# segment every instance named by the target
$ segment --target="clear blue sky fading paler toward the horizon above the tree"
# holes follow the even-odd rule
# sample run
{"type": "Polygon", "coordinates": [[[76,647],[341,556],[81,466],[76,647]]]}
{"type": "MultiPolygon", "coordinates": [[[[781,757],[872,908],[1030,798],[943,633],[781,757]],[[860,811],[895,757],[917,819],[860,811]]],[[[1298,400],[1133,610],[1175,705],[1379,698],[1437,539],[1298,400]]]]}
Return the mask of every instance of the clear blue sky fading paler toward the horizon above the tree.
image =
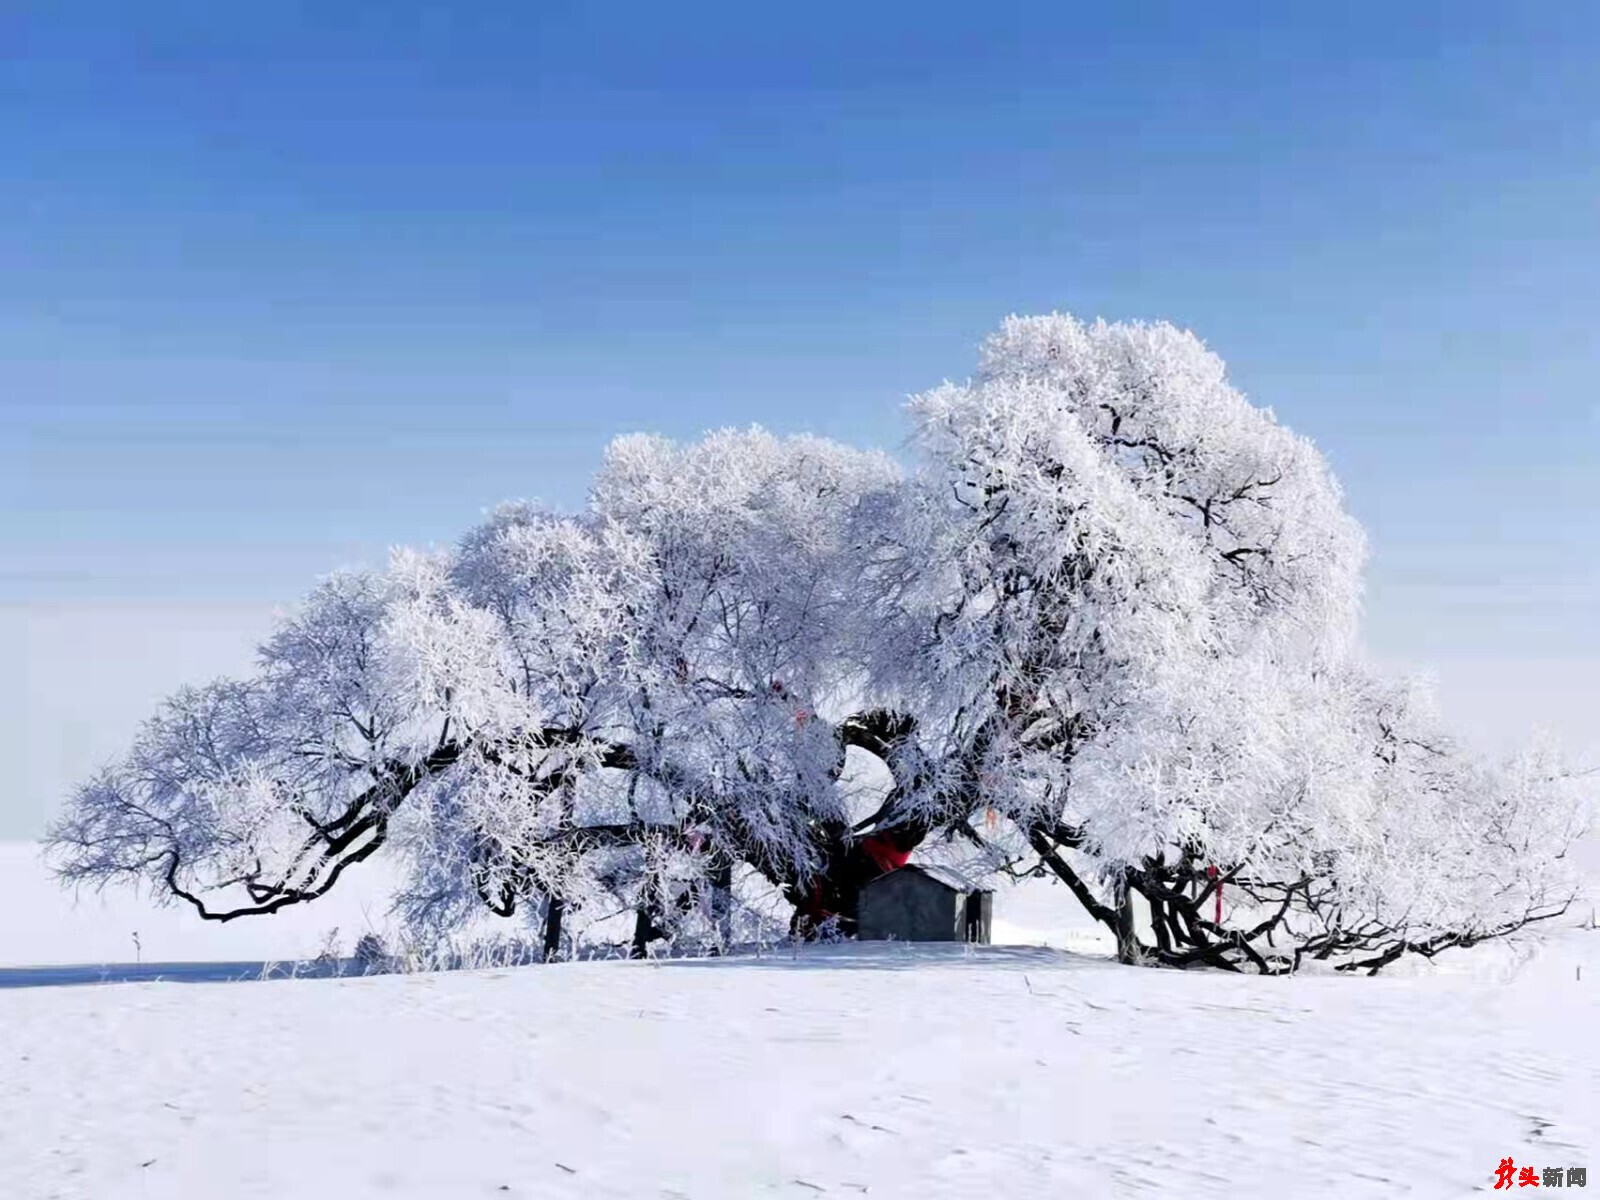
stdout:
{"type": "Polygon", "coordinates": [[[893,450],[1051,309],[1206,338],[1373,648],[1600,750],[1597,61],[1586,3],[5,5],[0,837],[334,566],[626,430],[893,450]]]}

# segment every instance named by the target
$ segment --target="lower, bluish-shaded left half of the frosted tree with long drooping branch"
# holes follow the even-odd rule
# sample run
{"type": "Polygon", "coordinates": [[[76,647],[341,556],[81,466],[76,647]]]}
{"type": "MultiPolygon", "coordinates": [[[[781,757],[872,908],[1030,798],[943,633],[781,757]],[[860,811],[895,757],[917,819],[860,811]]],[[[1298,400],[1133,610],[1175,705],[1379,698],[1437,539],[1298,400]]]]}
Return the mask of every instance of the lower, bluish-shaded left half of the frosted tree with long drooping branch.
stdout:
{"type": "Polygon", "coordinates": [[[837,709],[869,638],[858,550],[898,486],[816,438],[622,438],[586,514],[506,507],[333,579],[256,678],[174,698],[53,830],[62,874],[232,920],[389,843],[413,922],[531,901],[547,952],[586,899],[637,907],[637,947],[702,891],[725,922],[738,864],[798,898],[872,736],[837,709]]]}

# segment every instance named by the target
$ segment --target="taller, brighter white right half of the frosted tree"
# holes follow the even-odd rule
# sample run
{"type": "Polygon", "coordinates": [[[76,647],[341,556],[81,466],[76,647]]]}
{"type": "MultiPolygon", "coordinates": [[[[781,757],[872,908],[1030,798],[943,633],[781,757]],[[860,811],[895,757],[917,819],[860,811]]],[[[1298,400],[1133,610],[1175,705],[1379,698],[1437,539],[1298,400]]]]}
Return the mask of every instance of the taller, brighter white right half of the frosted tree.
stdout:
{"type": "Polygon", "coordinates": [[[1011,320],[912,411],[926,566],[890,573],[877,661],[936,763],[907,824],[1010,818],[1125,958],[1378,963],[1560,910],[1560,768],[1493,773],[1432,726],[1397,757],[1410,710],[1355,662],[1360,530],[1198,339],[1011,320]],[[1512,843],[1518,885],[1475,886],[1512,843]],[[1221,926],[1229,882],[1259,902],[1221,926]]]}

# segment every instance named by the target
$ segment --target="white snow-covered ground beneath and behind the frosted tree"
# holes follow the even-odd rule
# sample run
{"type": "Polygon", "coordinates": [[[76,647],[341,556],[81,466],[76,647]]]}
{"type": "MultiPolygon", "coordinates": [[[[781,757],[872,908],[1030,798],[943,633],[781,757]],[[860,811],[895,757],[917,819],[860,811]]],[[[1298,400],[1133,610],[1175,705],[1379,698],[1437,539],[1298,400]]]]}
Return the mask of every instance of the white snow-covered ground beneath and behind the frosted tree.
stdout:
{"type": "MultiPolygon", "coordinates": [[[[10,965],[126,960],[130,920],[147,960],[286,957],[382,907],[210,930],[74,914],[22,848],[5,870],[10,965]]],[[[0,1197],[1464,1197],[1507,1155],[1600,1170],[1587,907],[1403,978],[1278,981],[1117,966],[1069,910],[1029,885],[997,933],[1077,950],[0,989],[0,1197]]]]}

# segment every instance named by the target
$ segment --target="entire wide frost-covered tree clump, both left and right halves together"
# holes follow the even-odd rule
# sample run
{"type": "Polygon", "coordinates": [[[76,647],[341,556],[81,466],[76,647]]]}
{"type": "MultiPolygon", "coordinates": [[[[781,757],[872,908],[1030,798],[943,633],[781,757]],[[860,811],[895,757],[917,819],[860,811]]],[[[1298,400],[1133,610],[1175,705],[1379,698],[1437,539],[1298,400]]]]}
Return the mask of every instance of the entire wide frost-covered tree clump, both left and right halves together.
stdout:
{"type": "Polygon", "coordinates": [[[77,794],[62,874],[229,920],[387,843],[413,922],[531,912],[547,954],[606,906],[638,954],[726,941],[741,869],[848,931],[930,837],[1035,859],[1126,960],[1376,970],[1558,910],[1560,765],[1475,763],[1360,664],[1326,462],[1192,334],[1011,320],[910,413],[909,475],[630,437],[578,515],[330,581],[77,794]]]}

